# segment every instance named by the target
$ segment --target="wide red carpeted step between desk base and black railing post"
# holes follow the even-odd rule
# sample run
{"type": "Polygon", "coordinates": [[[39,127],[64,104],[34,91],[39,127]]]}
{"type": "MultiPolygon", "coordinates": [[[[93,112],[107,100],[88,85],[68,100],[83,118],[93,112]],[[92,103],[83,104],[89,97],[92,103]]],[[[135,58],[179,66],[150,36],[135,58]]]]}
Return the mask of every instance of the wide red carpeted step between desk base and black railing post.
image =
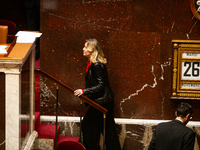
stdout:
{"type": "MultiPolygon", "coordinates": [[[[38,138],[54,139],[56,138],[56,125],[40,124],[36,130],[38,138]]],[[[59,138],[60,126],[57,126],[57,138],[59,138]]]]}

